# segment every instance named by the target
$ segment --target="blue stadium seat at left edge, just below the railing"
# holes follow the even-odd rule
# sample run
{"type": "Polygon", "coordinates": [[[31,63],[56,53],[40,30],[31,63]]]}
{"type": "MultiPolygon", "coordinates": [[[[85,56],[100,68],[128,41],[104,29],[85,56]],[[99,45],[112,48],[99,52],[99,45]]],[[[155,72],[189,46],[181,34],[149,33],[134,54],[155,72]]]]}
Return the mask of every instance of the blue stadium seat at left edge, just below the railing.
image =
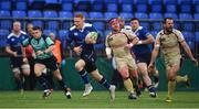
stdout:
{"type": "Polygon", "coordinates": [[[4,29],[4,30],[12,29],[12,21],[10,21],[10,20],[0,20],[0,29],[4,29]]]}

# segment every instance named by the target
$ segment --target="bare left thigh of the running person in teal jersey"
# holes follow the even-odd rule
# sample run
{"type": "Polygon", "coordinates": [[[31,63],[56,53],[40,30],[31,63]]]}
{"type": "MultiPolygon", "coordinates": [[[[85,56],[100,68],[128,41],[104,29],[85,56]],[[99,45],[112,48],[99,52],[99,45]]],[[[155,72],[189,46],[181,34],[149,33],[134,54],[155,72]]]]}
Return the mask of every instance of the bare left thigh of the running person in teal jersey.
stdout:
{"type": "Polygon", "coordinates": [[[35,76],[39,77],[42,74],[44,68],[45,68],[44,64],[35,63],[34,64],[34,74],[35,74],[35,76]]]}

